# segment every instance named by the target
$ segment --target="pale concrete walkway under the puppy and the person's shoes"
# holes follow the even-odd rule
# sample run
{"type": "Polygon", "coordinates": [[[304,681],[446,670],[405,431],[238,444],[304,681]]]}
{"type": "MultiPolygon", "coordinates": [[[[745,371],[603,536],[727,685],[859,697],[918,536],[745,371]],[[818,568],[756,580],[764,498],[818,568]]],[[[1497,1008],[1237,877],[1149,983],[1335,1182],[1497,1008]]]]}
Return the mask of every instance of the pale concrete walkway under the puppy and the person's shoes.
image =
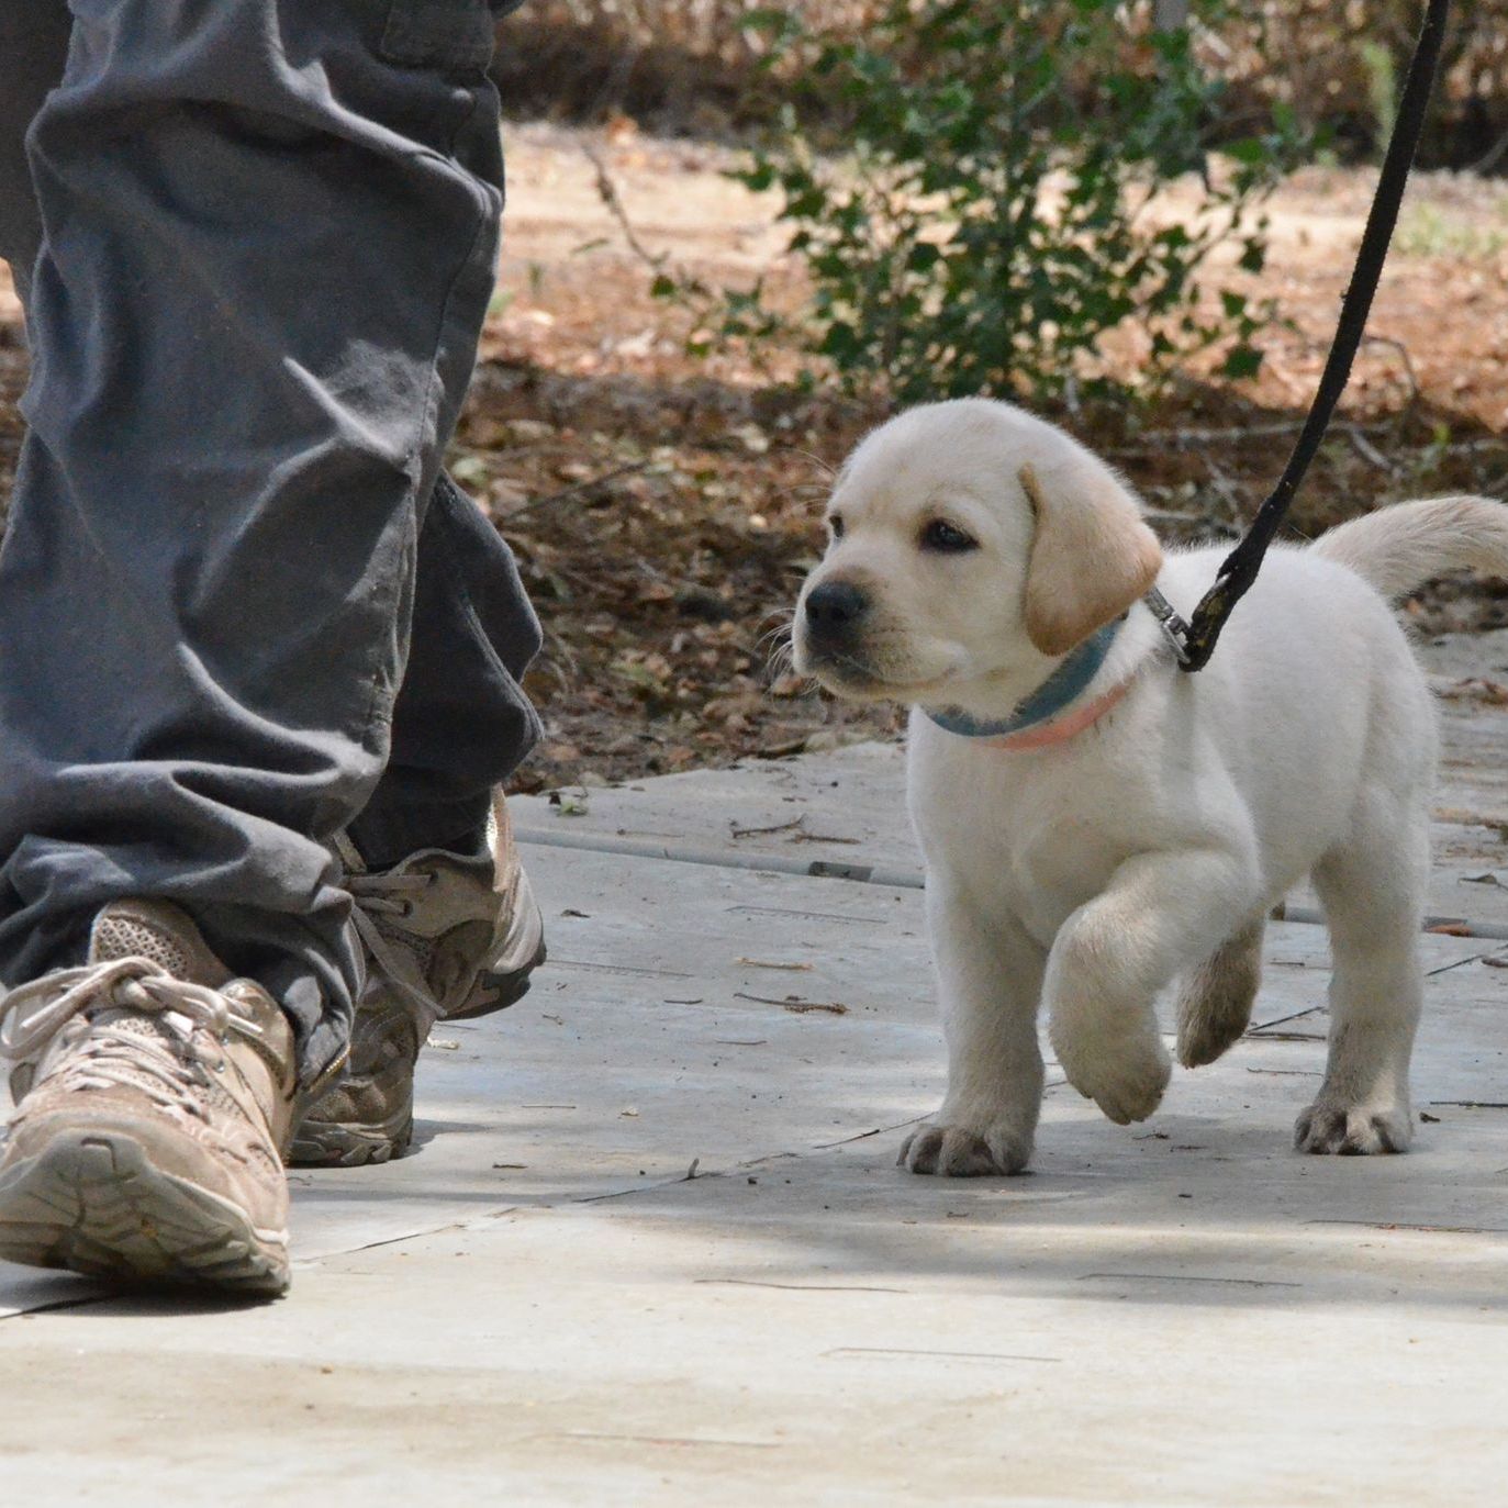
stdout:
{"type": "Polygon", "coordinates": [[[1151,1122],[1051,1072],[1030,1176],[908,1176],[942,1054],[899,751],[520,802],[550,964],[436,1033],[416,1155],[294,1175],[285,1301],[0,1264],[8,1497],[1500,1500],[1508,712],[1460,692],[1508,633],[1431,654],[1434,908],[1496,936],[1427,938],[1410,1157],[1288,1151],[1329,961],[1285,921],[1151,1122]]]}

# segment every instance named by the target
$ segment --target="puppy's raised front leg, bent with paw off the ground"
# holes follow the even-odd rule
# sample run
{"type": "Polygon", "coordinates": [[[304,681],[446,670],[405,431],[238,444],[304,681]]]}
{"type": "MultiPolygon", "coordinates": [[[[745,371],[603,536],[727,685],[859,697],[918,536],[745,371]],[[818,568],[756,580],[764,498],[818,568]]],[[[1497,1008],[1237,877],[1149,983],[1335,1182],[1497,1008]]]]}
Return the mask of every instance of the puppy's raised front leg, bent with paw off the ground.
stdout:
{"type": "Polygon", "coordinates": [[[1221,851],[1140,854],[1063,923],[1044,998],[1068,1081],[1119,1125],[1145,1120],[1170,1065],[1157,992],[1205,958],[1259,897],[1256,866],[1221,851]]]}

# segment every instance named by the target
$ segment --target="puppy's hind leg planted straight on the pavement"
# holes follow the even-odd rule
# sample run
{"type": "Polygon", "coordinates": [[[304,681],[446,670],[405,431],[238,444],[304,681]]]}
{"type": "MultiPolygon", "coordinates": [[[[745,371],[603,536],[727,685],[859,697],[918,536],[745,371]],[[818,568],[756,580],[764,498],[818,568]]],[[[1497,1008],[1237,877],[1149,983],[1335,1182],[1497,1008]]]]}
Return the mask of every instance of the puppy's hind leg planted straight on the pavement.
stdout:
{"type": "Polygon", "coordinates": [[[1424,810],[1374,810],[1315,869],[1330,923],[1330,1057],[1294,1126],[1300,1152],[1405,1152],[1408,1059],[1424,995],[1419,929],[1430,873],[1424,810]]]}

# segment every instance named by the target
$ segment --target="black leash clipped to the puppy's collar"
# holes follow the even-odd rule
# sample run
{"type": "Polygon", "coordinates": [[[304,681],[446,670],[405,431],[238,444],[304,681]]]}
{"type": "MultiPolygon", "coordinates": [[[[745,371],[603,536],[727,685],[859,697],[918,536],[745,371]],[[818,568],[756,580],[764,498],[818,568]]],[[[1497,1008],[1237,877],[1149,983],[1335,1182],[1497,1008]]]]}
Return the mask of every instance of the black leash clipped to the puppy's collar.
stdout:
{"type": "Polygon", "coordinates": [[[1351,285],[1341,305],[1341,323],[1336,327],[1324,372],[1320,375],[1313,406],[1304,419],[1294,452],[1288,457],[1283,475],[1258,510],[1241,543],[1220,566],[1215,584],[1205,593],[1188,623],[1173,611],[1172,603],[1155,587],[1146,596],[1146,605],[1163,621],[1182,670],[1203,670],[1209,662],[1215,639],[1220,638],[1220,630],[1224,627],[1226,618],[1231,617],[1232,608],[1256,581],[1262,556],[1267,553],[1268,544],[1273,543],[1273,535],[1283,522],[1283,514],[1294,501],[1294,493],[1298,492],[1298,484],[1320,449],[1335,406],[1351,377],[1351,362],[1362,344],[1366,315],[1372,308],[1372,294],[1377,293],[1377,279],[1381,276],[1383,261],[1387,256],[1387,243],[1392,240],[1393,225],[1398,222],[1398,205],[1408,182],[1408,169],[1413,166],[1415,149],[1419,146],[1419,133],[1424,130],[1425,107],[1434,86],[1449,8],[1451,0],[1430,0],[1425,11],[1419,41],[1415,42],[1413,62],[1408,65],[1408,77],[1404,81],[1402,98],[1398,101],[1398,121],[1393,125],[1387,155],[1383,158],[1383,167],[1377,178],[1377,196],[1372,199],[1372,208],[1366,217],[1360,250],[1356,253],[1351,285]]]}

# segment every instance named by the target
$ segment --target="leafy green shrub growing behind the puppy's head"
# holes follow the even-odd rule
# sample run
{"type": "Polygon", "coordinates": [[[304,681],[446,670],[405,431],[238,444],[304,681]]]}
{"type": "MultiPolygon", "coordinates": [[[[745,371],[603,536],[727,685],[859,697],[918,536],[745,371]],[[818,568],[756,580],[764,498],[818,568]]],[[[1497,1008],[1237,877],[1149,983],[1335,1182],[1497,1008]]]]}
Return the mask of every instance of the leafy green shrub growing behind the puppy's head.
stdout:
{"type": "MultiPolygon", "coordinates": [[[[1191,9],[1199,27],[1220,5],[1191,9]]],[[[789,107],[737,176],[784,196],[814,296],[799,333],[851,386],[1042,398],[1098,383],[1096,348],[1129,320],[1151,336],[1148,380],[1218,341],[1226,374],[1256,371],[1271,309],[1226,288],[1200,314],[1197,274],[1232,240],[1238,265],[1261,270],[1258,207],[1297,142],[1280,122],[1212,161],[1221,84],[1190,27],[1158,32],[1145,11],[890,0],[858,36],[808,30],[790,9],[751,18],[771,65],[799,51],[802,86],[838,107],[840,154],[819,152],[789,107]],[[1149,204],[1188,173],[1197,211],[1149,204]]],[[[757,339],[777,323],[756,288],[727,299],[715,329],[757,339]]]]}

